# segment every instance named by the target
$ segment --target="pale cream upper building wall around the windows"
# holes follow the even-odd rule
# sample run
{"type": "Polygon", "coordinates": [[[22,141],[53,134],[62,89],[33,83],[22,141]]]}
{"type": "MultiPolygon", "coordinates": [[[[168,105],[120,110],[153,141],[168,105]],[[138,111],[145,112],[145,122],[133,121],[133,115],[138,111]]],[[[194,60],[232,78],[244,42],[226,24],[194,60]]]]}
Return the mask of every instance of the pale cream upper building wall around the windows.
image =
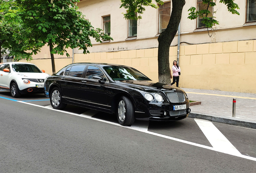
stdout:
{"type": "MultiPolygon", "coordinates": [[[[164,2],[171,1],[164,0],[164,2]]],[[[213,26],[214,32],[213,30],[210,30],[209,34],[212,36],[209,37],[207,30],[198,32],[198,29],[196,29],[196,20],[188,19],[188,9],[192,6],[197,6],[196,0],[186,0],[186,4],[182,10],[181,42],[200,44],[206,42],[256,39],[256,25],[243,26],[246,23],[246,0],[235,0],[234,2],[237,3],[240,8],[237,10],[240,15],[231,14],[231,12],[228,12],[225,4],[219,3],[219,0],[216,2],[217,5],[215,6],[214,11],[217,12],[214,16],[216,17],[216,20],[219,21],[219,25],[213,26]]],[[[92,39],[92,43],[100,47],[100,50],[97,51],[115,50],[114,47],[111,48],[111,44],[115,44],[117,48],[122,47],[128,50],[158,46],[156,36],[158,34],[159,24],[158,9],[150,6],[145,7],[145,12],[141,14],[142,19],[137,22],[136,40],[126,41],[128,38],[128,20],[124,19],[124,15],[122,14],[126,12],[126,9],[120,8],[120,0],[82,0],[78,3],[78,7],[83,11],[86,18],[89,19],[95,28],[103,29],[102,16],[111,16],[110,36],[114,40],[111,40],[108,44],[99,44],[92,39]],[[143,39],[151,39],[151,41],[142,42],[143,39]],[[136,43],[134,43],[134,41],[136,43]]],[[[174,38],[171,43],[171,45],[175,44],[177,44],[177,38],[174,38]]],[[[90,51],[93,49],[95,48],[89,48],[90,51]]],[[[93,52],[95,51],[96,50],[93,50],[93,52]]]]}

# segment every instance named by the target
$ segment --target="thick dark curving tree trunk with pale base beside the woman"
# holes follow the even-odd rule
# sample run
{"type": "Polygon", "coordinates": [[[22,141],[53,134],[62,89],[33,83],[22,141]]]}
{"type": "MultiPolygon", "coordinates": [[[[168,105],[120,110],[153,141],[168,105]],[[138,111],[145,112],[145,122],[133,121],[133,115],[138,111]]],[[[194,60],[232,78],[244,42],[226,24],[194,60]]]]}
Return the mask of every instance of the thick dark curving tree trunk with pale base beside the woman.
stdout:
{"type": "Polygon", "coordinates": [[[169,48],[178,31],[184,5],[185,0],[172,0],[169,24],[158,37],[158,79],[160,83],[171,84],[169,48]]]}

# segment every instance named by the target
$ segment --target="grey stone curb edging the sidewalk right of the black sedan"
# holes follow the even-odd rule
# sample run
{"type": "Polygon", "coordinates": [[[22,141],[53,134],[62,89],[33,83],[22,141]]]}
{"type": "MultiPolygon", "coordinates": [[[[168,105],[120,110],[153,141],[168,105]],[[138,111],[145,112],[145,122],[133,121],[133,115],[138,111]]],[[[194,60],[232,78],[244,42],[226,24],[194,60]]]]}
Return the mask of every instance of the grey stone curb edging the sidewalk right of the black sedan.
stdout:
{"type": "Polygon", "coordinates": [[[228,125],[235,125],[235,126],[240,126],[240,127],[247,127],[251,129],[256,129],[256,122],[254,121],[249,121],[245,119],[235,119],[233,117],[217,117],[217,116],[212,116],[212,115],[202,115],[202,114],[197,114],[197,113],[189,113],[188,115],[189,118],[196,118],[196,119],[204,119],[212,122],[217,122],[217,123],[223,123],[223,124],[228,124],[228,125]]]}

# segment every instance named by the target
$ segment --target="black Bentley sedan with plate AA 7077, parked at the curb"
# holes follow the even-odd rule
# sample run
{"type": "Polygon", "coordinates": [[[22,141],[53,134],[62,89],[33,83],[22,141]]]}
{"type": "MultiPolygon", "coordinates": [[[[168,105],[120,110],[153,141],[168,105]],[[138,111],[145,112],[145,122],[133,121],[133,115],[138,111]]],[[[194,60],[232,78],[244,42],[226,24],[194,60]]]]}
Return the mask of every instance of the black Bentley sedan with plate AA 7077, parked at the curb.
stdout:
{"type": "Polygon", "coordinates": [[[190,113],[182,89],[116,64],[70,64],[45,79],[45,96],[54,109],[72,104],[116,113],[120,125],[128,126],[135,119],[177,121],[190,113]]]}

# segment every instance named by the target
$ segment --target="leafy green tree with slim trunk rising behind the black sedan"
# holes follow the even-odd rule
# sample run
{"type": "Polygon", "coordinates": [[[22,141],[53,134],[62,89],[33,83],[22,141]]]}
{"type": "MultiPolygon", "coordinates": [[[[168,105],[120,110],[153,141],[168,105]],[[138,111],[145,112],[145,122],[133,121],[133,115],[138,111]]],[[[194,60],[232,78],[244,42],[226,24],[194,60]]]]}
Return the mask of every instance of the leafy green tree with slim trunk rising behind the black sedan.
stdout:
{"type": "MultiPolygon", "coordinates": [[[[99,28],[94,28],[85,15],[78,9],[79,0],[15,0],[19,12],[17,15],[23,27],[31,31],[33,44],[41,48],[45,44],[50,47],[52,72],[55,73],[54,54],[70,56],[66,49],[83,49],[92,46],[90,38],[97,42],[113,40],[99,28]]],[[[31,40],[32,41],[32,40],[31,40]]],[[[38,49],[33,49],[36,54],[38,49]]]]}

